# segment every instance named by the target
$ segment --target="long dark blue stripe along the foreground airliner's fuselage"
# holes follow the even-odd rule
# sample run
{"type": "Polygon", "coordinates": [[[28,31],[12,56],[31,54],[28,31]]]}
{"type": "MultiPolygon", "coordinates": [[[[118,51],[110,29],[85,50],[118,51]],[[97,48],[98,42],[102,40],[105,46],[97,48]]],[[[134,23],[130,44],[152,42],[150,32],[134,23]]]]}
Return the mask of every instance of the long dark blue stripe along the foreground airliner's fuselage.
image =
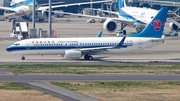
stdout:
{"type": "MultiPolygon", "coordinates": [[[[133,44],[123,44],[122,48],[127,48],[133,44]]],[[[6,48],[8,52],[14,51],[26,51],[26,50],[69,50],[69,49],[81,49],[81,48],[101,48],[110,47],[112,45],[96,45],[96,46],[9,46],[6,48]]],[[[112,48],[113,49],[113,48],[112,48]]],[[[117,48],[118,49],[118,48],[117,48]]]]}

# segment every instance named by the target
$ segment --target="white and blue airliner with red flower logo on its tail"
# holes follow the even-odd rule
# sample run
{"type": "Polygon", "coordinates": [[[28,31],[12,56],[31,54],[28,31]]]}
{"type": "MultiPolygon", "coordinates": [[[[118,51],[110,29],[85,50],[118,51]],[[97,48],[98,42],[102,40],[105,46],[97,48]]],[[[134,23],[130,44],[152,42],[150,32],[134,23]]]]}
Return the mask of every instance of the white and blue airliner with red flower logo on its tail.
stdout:
{"type": "Polygon", "coordinates": [[[163,7],[153,20],[140,33],[124,37],[101,38],[37,38],[17,41],[8,46],[10,53],[26,55],[60,55],[66,59],[93,60],[92,55],[121,53],[142,50],[164,42],[164,25],[168,8],[163,7]]]}

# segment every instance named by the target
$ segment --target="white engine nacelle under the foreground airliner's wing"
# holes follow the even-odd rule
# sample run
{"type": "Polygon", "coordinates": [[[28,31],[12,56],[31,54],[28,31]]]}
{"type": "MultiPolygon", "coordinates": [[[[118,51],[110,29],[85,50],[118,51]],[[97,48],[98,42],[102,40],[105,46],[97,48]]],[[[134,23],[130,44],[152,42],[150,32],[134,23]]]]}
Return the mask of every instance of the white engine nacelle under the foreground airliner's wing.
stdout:
{"type": "Polygon", "coordinates": [[[82,57],[81,51],[67,50],[65,51],[65,58],[67,59],[79,59],[82,57]]]}

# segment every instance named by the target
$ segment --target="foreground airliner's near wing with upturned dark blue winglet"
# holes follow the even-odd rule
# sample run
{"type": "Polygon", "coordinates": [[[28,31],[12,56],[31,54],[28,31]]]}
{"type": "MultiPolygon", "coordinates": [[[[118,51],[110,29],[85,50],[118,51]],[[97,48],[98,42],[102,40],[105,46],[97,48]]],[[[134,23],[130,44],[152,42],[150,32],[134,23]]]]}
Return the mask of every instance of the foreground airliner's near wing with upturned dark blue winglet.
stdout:
{"type": "Polygon", "coordinates": [[[82,54],[87,54],[88,53],[88,54],[91,54],[91,55],[99,54],[99,53],[102,53],[102,52],[108,52],[107,49],[122,48],[125,39],[126,39],[126,36],[124,36],[122,38],[122,40],[119,42],[119,44],[116,45],[116,46],[97,47],[97,48],[83,48],[83,49],[80,49],[80,51],[82,52],[82,54]]]}

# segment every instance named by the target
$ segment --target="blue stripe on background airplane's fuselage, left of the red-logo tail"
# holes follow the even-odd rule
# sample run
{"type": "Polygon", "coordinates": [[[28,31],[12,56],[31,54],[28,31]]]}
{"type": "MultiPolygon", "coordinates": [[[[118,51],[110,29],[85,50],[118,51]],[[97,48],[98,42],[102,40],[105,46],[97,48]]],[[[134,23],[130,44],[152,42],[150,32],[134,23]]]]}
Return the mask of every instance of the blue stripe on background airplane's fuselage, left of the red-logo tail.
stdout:
{"type": "Polygon", "coordinates": [[[147,24],[145,22],[142,22],[140,20],[137,20],[136,18],[134,18],[133,16],[127,14],[126,12],[124,12],[122,9],[119,9],[119,15],[128,19],[128,20],[133,20],[134,23],[139,23],[139,24],[147,24]]]}

